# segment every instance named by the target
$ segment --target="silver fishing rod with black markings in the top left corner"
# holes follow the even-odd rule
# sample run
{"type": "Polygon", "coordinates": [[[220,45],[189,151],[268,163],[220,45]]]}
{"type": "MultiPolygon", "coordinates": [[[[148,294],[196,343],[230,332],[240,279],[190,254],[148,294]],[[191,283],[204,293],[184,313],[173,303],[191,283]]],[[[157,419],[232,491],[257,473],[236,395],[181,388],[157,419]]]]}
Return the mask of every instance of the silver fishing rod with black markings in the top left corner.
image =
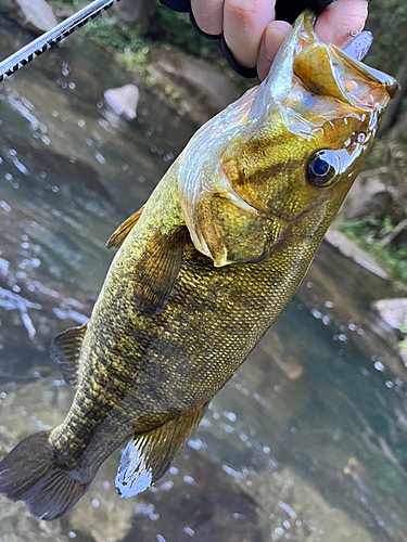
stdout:
{"type": "Polygon", "coordinates": [[[96,0],[0,63],[0,81],[51,49],[119,0],[96,0]]]}

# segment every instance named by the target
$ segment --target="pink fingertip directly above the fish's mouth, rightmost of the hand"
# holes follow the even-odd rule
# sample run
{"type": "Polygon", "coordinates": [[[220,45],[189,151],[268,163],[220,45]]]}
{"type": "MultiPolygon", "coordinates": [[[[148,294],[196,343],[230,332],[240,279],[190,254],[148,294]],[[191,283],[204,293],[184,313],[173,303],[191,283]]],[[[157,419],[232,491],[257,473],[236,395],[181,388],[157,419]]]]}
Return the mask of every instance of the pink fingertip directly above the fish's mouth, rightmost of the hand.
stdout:
{"type": "Polygon", "coordinates": [[[342,47],[351,39],[351,33],[364,29],[367,16],[367,0],[338,0],[318,16],[315,30],[323,43],[342,47]]]}

